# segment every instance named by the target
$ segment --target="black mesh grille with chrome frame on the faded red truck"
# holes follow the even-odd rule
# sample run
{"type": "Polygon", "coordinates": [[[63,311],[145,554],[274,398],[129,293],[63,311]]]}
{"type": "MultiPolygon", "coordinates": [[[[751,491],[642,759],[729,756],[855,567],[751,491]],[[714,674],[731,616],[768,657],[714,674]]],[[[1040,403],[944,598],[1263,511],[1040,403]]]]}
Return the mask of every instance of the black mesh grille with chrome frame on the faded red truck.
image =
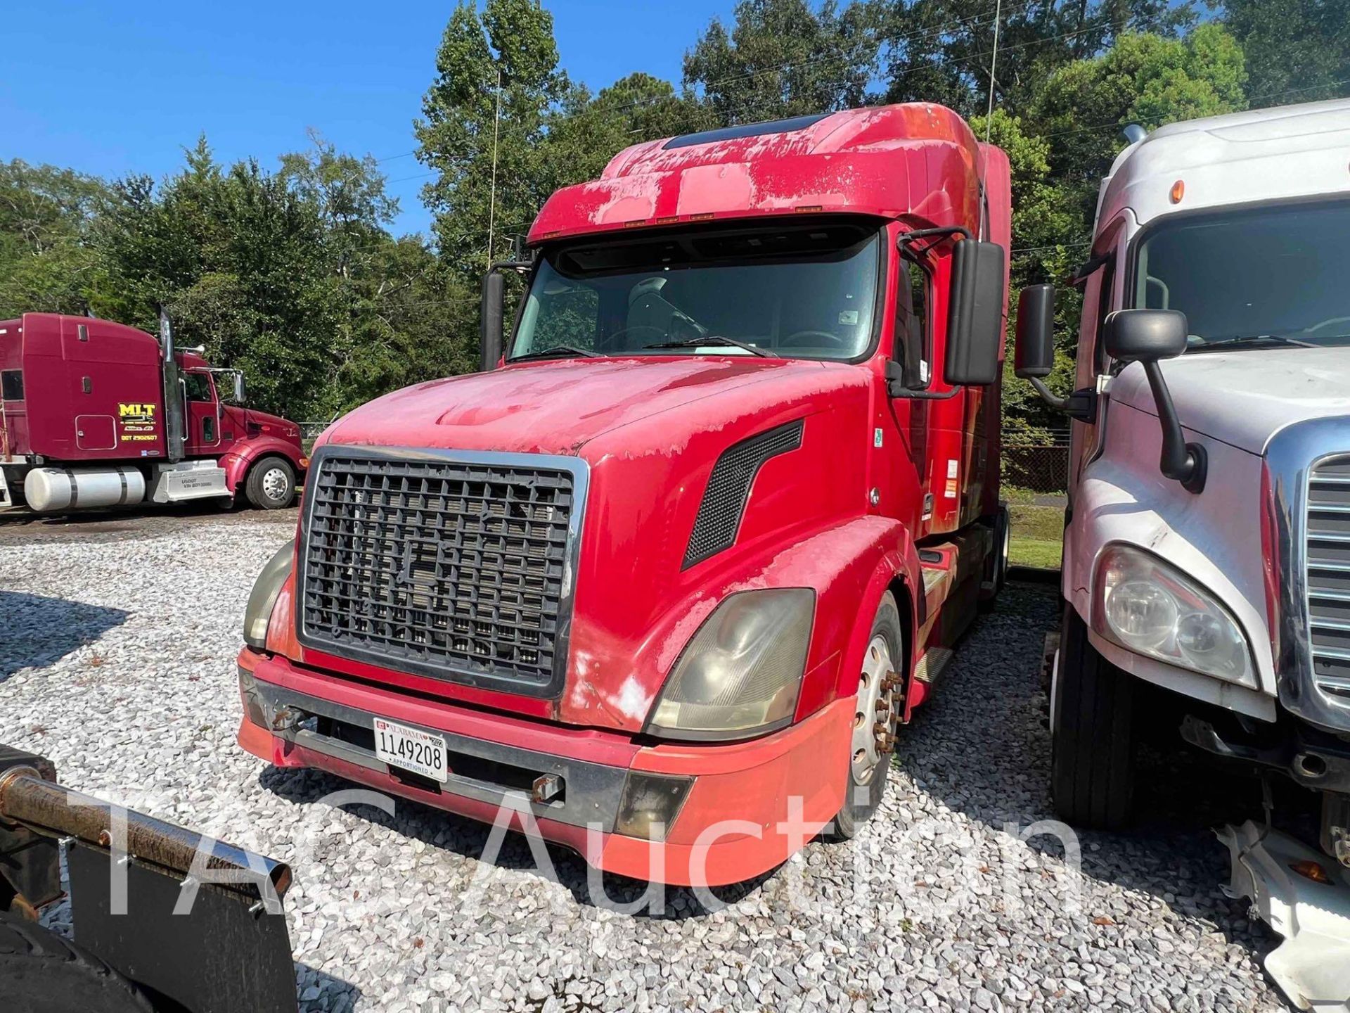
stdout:
{"type": "Polygon", "coordinates": [[[321,448],[301,527],[301,643],[555,693],[585,482],[571,458],[321,448]]]}

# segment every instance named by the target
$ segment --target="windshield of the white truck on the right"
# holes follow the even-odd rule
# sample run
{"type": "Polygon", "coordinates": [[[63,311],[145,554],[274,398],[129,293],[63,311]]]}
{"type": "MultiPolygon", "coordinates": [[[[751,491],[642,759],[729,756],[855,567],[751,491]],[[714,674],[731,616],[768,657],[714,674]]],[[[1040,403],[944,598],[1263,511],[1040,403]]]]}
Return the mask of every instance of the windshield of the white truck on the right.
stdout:
{"type": "Polygon", "coordinates": [[[1162,222],[1139,243],[1134,305],[1187,315],[1187,351],[1350,344],[1350,203],[1162,222]]]}

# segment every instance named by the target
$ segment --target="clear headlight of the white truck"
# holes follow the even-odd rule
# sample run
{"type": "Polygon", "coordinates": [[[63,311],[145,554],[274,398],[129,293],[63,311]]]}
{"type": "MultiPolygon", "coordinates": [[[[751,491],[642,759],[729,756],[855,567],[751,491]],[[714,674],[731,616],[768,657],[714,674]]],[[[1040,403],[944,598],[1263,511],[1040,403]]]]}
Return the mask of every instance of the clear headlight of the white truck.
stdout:
{"type": "Polygon", "coordinates": [[[1168,665],[1256,686],[1247,638],[1207,589],[1154,555],[1107,546],[1096,573],[1092,628],[1168,665]]]}

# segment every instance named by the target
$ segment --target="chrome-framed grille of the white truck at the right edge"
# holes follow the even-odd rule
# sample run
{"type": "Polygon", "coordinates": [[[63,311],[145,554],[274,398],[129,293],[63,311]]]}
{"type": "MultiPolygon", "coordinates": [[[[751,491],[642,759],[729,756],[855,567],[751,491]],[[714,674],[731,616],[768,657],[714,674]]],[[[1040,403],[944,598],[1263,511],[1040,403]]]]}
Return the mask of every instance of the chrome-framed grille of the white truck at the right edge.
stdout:
{"type": "Polygon", "coordinates": [[[1280,430],[1266,446],[1265,478],[1278,578],[1272,640],[1280,702],[1311,724],[1347,732],[1350,417],[1280,430]]]}

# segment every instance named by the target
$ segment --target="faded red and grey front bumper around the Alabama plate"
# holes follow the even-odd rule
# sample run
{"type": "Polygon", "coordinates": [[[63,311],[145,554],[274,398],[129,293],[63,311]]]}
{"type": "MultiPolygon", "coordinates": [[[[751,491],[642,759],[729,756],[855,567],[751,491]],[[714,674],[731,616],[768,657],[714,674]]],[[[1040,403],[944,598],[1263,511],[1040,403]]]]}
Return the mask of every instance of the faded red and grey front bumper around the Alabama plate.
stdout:
{"type": "Polygon", "coordinates": [[[471,819],[537,828],[606,873],[679,886],[741,882],[788,859],[844,804],[853,704],[745,743],[643,744],[614,732],[428,702],[240,654],[239,744],[278,767],[319,767],[389,794],[471,819]],[[450,778],[409,777],[375,756],[375,717],[446,739],[450,778]],[[560,793],[531,786],[552,775],[560,793]],[[664,840],[620,832],[625,790],[687,785],[664,840]]]}

